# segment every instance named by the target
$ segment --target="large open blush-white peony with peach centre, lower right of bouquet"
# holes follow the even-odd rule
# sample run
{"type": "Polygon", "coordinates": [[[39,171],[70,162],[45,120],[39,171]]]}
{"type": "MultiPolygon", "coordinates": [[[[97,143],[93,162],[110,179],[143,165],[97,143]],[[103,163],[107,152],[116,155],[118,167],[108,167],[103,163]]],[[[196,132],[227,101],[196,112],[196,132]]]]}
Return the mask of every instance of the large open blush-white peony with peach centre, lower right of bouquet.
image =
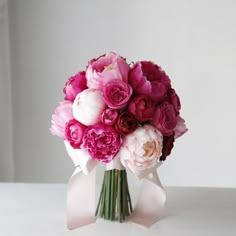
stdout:
{"type": "Polygon", "coordinates": [[[155,127],[138,127],[124,138],[119,152],[122,164],[136,173],[153,167],[161,156],[162,140],[161,132],[155,127]]]}

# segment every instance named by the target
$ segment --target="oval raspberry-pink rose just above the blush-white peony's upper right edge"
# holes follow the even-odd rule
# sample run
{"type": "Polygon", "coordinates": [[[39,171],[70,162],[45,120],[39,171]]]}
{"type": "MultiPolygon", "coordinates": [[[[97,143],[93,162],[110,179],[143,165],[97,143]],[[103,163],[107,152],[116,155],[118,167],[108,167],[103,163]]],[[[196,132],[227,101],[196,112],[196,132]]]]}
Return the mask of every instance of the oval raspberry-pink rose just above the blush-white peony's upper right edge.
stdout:
{"type": "Polygon", "coordinates": [[[158,106],[153,117],[153,124],[164,136],[172,135],[177,124],[174,106],[168,102],[163,102],[158,106]]]}

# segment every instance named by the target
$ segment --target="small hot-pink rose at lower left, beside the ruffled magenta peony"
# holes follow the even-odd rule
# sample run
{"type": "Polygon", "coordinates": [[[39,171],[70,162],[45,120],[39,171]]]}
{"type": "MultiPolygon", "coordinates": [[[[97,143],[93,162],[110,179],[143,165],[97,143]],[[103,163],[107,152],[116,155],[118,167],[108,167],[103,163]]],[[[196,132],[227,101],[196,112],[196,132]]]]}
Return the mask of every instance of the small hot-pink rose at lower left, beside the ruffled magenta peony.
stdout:
{"type": "Polygon", "coordinates": [[[66,123],[65,138],[73,148],[80,148],[86,127],[73,119],[66,123]]]}

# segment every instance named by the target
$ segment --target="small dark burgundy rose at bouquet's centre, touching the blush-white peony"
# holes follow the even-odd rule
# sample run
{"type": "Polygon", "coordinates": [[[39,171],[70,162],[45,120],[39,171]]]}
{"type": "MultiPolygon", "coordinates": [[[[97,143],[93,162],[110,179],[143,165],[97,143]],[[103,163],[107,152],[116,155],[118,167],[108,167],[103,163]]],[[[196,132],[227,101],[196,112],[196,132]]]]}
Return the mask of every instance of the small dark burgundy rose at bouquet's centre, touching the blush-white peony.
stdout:
{"type": "Polygon", "coordinates": [[[120,134],[130,134],[137,128],[137,121],[135,118],[128,112],[122,112],[115,124],[116,130],[120,134]]]}

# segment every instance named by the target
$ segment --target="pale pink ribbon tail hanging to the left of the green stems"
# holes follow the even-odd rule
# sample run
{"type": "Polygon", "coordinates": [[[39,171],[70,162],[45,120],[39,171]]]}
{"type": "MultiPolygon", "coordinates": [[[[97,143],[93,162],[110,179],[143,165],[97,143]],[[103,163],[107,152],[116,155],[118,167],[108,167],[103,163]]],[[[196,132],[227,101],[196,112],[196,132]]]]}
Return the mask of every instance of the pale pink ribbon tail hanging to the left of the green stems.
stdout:
{"type": "Polygon", "coordinates": [[[84,175],[80,167],[77,167],[68,184],[68,229],[95,223],[95,187],[96,168],[89,175],[84,175]]]}

